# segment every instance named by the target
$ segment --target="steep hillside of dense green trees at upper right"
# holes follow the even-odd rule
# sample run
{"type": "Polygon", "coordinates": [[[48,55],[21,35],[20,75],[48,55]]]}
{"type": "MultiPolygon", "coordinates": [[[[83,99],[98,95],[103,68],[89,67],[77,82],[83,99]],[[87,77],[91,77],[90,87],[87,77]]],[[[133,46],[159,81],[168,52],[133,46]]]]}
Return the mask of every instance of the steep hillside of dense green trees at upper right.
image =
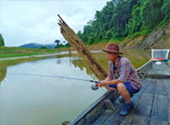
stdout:
{"type": "Polygon", "coordinates": [[[120,43],[127,38],[144,38],[169,22],[170,0],[111,0],[77,34],[86,44],[120,43]]]}

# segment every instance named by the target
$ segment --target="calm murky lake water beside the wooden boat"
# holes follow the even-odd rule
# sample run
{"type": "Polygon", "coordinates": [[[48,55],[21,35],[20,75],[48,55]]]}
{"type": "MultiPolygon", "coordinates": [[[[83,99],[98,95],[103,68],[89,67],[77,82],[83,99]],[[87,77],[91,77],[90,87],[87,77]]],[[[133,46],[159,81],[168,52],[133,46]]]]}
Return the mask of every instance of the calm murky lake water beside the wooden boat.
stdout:
{"type": "MultiPolygon", "coordinates": [[[[150,52],[124,50],[136,68],[147,62],[150,52]]],[[[105,53],[95,53],[107,70],[105,53]]],[[[96,77],[79,56],[0,61],[0,124],[60,125],[74,119],[105,89],[92,91],[93,83],[57,76],[96,77]]]]}

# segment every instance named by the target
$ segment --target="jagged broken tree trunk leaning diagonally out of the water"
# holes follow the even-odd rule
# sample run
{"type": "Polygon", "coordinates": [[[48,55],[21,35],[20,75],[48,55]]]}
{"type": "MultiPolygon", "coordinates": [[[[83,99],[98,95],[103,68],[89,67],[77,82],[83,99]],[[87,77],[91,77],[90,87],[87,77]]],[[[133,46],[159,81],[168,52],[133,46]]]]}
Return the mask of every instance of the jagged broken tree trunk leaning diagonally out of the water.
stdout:
{"type": "Polygon", "coordinates": [[[105,79],[107,76],[104,68],[96,61],[94,56],[90,53],[90,51],[86,48],[85,44],[82,40],[77,36],[77,34],[66,24],[66,22],[59,17],[59,25],[61,34],[67,40],[67,42],[73,46],[80,56],[84,59],[84,61],[89,65],[90,69],[96,75],[99,80],[105,79]]]}

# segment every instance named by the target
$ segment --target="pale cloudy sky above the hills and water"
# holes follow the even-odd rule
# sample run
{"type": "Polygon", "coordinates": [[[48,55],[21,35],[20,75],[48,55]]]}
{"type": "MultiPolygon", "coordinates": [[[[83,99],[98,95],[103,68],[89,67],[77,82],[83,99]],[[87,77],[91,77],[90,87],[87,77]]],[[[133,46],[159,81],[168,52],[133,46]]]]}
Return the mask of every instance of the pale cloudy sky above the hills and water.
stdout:
{"type": "Polygon", "coordinates": [[[0,34],[5,46],[64,41],[57,14],[77,33],[110,0],[0,0],[0,34]]]}

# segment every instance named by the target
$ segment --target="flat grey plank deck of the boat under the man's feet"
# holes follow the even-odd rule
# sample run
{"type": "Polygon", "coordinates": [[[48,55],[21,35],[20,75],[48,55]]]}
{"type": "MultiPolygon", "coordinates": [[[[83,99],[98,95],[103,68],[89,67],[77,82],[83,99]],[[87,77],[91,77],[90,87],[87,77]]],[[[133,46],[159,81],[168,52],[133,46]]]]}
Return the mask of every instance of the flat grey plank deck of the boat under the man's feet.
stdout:
{"type": "Polygon", "coordinates": [[[142,89],[132,98],[131,113],[120,116],[122,104],[115,102],[116,111],[106,110],[97,125],[168,125],[170,123],[170,79],[150,79],[142,81],[142,89]]]}

